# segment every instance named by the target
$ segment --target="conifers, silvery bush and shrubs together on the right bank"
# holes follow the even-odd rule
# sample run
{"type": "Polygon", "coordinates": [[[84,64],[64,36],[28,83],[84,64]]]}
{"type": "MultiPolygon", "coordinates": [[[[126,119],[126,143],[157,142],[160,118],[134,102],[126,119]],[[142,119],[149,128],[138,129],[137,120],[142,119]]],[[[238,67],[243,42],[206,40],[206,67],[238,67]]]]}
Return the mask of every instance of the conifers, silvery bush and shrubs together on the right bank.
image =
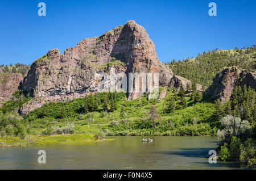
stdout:
{"type": "Polygon", "coordinates": [[[216,101],[216,117],[220,120],[218,136],[222,137],[218,147],[222,161],[236,161],[247,167],[256,166],[254,150],[256,132],[256,92],[249,88],[237,86],[229,102],[221,106],[216,101]]]}

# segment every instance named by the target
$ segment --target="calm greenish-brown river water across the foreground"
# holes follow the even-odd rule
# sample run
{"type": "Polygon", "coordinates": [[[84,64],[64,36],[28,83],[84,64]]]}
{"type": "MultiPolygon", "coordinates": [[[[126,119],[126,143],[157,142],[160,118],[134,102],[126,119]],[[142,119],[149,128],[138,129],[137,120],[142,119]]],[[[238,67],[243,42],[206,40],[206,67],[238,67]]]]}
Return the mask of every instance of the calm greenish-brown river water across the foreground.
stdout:
{"type": "Polygon", "coordinates": [[[82,145],[0,148],[0,169],[243,169],[236,163],[210,164],[217,137],[108,137],[82,145]],[[38,163],[46,151],[46,164],[38,163]]]}

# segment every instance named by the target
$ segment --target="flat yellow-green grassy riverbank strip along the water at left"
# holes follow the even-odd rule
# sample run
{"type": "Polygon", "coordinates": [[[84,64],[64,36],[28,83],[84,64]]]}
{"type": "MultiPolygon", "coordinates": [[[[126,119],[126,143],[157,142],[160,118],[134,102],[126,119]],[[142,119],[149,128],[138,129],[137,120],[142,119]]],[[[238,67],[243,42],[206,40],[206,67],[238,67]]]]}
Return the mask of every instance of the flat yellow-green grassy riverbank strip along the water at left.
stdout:
{"type": "Polygon", "coordinates": [[[98,139],[93,134],[68,134],[53,136],[31,136],[22,140],[20,137],[0,138],[0,147],[15,146],[39,146],[39,145],[60,145],[60,144],[83,144],[85,142],[110,140],[98,139]]]}

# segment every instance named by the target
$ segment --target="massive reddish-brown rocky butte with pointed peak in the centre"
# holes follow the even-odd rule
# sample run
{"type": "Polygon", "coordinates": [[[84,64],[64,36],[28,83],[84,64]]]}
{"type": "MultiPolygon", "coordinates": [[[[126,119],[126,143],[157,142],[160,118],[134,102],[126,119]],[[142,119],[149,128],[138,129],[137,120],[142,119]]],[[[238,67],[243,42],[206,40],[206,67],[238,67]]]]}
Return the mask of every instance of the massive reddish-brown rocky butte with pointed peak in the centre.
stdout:
{"type": "MultiPolygon", "coordinates": [[[[118,73],[127,75],[127,81],[129,73],[159,73],[159,86],[170,88],[179,88],[181,82],[185,86],[188,81],[174,77],[171,69],[158,60],[155,45],[146,30],[130,20],[99,37],[80,41],[76,47],[67,48],[64,54],[60,54],[59,49],[52,49],[38,58],[19,87],[35,99],[23,105],[20,113],[28,113],[52,100],[72,100],[88,92],[98,92],[99,83],[110,81],[102,77],[102,73],[110,74],[111,71],[115,72],[115,85],[119,87],[125,86],[122,85],[123,76],[118,73]]],[[[139,86],[141,83],[140,79],[139,86]]],[[[200,90],[200,85],[197,87],[200,90]]],[[[143,94],[127,92],[129,100],[143,94]]]]}

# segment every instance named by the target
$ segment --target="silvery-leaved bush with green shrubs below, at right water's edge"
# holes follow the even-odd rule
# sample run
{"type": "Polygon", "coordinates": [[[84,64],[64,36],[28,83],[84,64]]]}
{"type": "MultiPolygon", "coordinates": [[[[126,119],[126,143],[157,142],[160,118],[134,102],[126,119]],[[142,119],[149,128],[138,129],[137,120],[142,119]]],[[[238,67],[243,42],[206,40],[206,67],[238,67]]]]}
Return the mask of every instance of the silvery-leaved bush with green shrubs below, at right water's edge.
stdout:
{"type": "Polygon", "coordinates": [[[218,136],[222,142],[218,148],[218,158],[222,161],[236,161],[247,167],[256,167],[256,151],[250,137],[251,127],[248,121],[239,117],[225,116],[221,119],[222,131],[218,136]]]}

